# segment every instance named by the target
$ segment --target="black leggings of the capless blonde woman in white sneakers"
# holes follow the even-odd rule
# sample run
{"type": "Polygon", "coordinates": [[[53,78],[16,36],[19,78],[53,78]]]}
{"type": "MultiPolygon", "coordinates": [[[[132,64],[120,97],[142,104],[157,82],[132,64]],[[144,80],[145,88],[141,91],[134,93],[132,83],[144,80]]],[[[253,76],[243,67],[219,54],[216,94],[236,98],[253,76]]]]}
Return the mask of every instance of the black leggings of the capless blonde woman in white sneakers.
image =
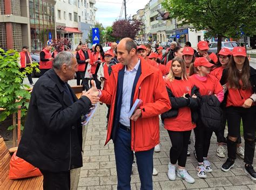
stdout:
{"type": "Polygon", "coordinates": [[[191,130],[167,131],[172,142],[172,147],[170,149],[171,164],[176,164],[178,160],[178,165],[185,167],[187,160],[188,140],[190,139],[191,130]]]}

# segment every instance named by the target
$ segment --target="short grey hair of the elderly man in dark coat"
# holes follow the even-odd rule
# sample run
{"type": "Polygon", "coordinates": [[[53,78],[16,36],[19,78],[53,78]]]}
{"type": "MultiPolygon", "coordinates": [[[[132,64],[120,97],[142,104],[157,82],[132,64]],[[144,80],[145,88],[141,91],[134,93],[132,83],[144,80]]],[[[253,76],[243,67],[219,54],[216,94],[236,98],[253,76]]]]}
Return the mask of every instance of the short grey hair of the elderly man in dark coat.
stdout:
{"type": "Polygon", "coordinates": [[[53,60],[53,69],[60,70],[62,65],[65,63],[68,66],[71,66],[72,58],[75,57],[73,53],[69,51],[62,51],[58,53],[56,58],[53,60]]]}

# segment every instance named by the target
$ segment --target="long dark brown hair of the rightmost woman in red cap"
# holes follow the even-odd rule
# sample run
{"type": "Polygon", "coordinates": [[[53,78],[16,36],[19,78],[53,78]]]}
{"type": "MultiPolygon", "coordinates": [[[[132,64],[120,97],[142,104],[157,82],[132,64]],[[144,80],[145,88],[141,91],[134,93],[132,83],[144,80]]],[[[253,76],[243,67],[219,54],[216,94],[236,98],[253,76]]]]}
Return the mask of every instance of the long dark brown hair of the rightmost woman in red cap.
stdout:
{"type": "Polygon", "coordinates": [[[250,64],[249,59],[245,58],[244,66],[242,67],[242,72],[239,72],[237,67],[235,66],[234,57],[230,58],[230,62],[228,62],[228,74],[227,81],[228,85],[232,89],[242,89],[246,90],[251,87],[250,84],[250,64]],[[242,81],[242,86],[239,83],[239,80],[242,81]]]}

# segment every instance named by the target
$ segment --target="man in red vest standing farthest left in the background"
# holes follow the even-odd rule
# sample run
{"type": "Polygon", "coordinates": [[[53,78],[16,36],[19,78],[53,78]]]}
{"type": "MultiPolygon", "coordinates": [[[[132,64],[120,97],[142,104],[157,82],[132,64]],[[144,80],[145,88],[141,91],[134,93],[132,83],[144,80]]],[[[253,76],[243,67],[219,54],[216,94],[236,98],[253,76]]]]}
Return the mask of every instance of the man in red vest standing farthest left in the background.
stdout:
{"type": "MultiPolygon", "coordinates": [[[[23,46],[22,51],[19,52],[19,57],[18,57],[18,65],[20,67],[19,71],[23,72],[25,70],[26,66],[29,66],[32,63],[32,58],[29,53],[29,47],[28,46],[23,46]]],[[[30,86],[33,86],[33,80],[31,73],[26,73],[26,76],[28,76],[30,86]]]]}

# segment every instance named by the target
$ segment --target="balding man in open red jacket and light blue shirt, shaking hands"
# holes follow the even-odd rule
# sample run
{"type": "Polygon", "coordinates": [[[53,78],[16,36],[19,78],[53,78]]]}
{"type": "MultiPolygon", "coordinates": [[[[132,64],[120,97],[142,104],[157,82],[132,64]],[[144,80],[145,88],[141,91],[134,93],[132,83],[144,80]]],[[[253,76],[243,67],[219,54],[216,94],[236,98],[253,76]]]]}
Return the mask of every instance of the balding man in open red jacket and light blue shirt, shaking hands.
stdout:
{"type": "Polygon", "coordinates": [[[100,101],[111,105],[107,142],[114,142],[117,166],[117,189],[131,189],[133,151],[135,152],[141,189],[153,189],[153,152],[159,144],[159,114],[171,104],[160,71],[137,57],[131,38],[117,45],[120,64],[112,66],[106,90],[100,101]],[[131,118],[129,112],[136,99],[142,100],[131,118]]]}

